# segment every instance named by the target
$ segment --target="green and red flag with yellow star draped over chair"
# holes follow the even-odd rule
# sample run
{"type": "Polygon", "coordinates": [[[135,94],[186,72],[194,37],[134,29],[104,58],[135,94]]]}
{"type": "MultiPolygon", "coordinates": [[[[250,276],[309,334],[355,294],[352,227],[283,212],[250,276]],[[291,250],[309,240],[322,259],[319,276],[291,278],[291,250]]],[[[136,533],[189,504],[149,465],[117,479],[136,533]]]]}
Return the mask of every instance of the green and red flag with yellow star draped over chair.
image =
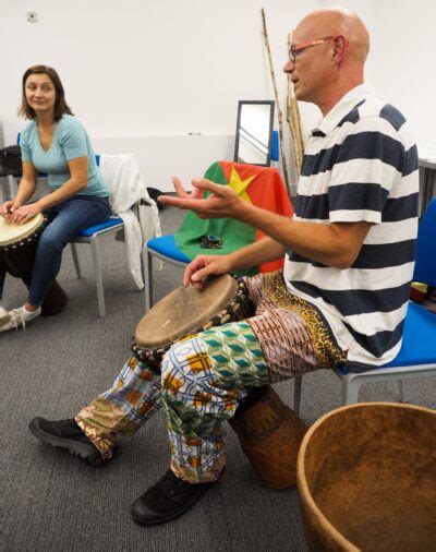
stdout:
{"type": "MultiPolygon", "coordinates": [[[[217,184],[230,185],[242,200],[256,207],[288,218],[292,215],[292,205],[277,169],[242,163],[217,161],[207,169],[204,178],[217,184]]],[[[199,254],[223,255],[231,253],[254,243],[264,236],[259,230],[239,220],[231,218],[202,220],[195,213],[190,212],[174,238],[178,249],[192,260],[199,254]],[[203,249],[201,247],[202,237],[210,235],[222,240],[220,249],[203,249]]],[[[257,272],[277,271],[282,265],[282,260],[272,261],[251,271],[241,271],[240,274],[252,275],[257,272]]]]}

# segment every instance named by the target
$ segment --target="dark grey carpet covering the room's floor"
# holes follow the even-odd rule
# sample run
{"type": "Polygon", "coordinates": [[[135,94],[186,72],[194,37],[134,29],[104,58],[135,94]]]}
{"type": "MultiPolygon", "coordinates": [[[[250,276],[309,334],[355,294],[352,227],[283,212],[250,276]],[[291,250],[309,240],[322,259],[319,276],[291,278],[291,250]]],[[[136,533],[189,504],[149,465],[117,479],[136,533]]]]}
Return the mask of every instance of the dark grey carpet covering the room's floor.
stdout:
{"type": "MultiPolygon", "coordinates": [[[[173,231],[184,215],[161,212],[173,231]]],[[[169,449],[158,413],[121,443],[119,456],[102,469],[46,448],[28,432],[34,416],[72,417],[108,388],[129,355],[130,337],[144,312],[143,292],[125,274],[124,245],[108,238],[102,247],[107,316],[98,317],[89,248],[78,245],[85,279],[75,278],[71,252],[61,274],[70,304],[60,315],[38,320],[25,332],[0,334],[1,535],[2,551],[305,551],[295,489],[265,488],[229,430],[228,469],[185,516],[142,528],[130,504],[167,469],[169,449]]],[[[182,271],[166,265],[155,277],[155,299],[179,285],[182,271]]],[[[5,307],[22,304],[24,287],[7,279],[5,307]]],[[[405,384],[411,403],[435,407],[436,382],[405,384]]],[[[289,403],[292,383],[278,386],[289,403]]],[[[361,400],[398,400],[395,384],[367,385],[361,400]]],[[[304,377],[302,413],[313,422],[340,406],[336,377],[319,371],[304,377]]]]}

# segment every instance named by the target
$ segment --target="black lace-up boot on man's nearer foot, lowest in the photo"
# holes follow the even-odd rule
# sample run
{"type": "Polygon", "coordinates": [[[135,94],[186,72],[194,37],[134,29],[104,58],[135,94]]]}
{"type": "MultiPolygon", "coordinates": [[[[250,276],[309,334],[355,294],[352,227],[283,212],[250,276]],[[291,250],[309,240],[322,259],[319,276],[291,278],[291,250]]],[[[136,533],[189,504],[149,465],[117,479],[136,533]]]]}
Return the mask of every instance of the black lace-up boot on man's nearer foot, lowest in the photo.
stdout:
{"type": "Polygon", "coordinates": [[[141,525],[171,521],[187,512],[213,484],[187,483],[169,469],[132,504],[132,517],[141,525]]]}

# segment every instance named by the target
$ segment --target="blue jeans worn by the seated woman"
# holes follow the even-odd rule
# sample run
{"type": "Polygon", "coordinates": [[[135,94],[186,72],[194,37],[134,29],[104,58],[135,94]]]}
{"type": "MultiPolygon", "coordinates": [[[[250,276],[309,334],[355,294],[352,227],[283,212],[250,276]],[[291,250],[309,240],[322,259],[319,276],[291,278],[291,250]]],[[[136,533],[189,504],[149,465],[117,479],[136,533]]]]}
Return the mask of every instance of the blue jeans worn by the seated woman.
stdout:
{"type": "Polygon", "coordinates": [[[39,307],[58,276],[62,251],[66,243],[76,238],[88,226],[99,225],[111,214],[107,197],[74,195],[44,212],[50,224],[41,233],[36,248],[28,302],[39,307]]]}

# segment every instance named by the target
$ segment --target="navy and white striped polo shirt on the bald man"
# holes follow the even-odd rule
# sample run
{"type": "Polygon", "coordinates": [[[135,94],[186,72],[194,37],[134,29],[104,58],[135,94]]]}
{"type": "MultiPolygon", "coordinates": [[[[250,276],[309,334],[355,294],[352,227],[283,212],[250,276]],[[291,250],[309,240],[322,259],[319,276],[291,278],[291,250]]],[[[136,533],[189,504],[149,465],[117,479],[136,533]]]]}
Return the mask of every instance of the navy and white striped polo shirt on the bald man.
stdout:
{"type": "Polygon", "coordinates": [[[292,293],[318,308],[353,362],[384,364],[401,347],[417,231],[417,151],[395,107],[350,91],[305,148],[294,219],[374,223],[354,264],[332,268],[289,252],[292,293]]]}

